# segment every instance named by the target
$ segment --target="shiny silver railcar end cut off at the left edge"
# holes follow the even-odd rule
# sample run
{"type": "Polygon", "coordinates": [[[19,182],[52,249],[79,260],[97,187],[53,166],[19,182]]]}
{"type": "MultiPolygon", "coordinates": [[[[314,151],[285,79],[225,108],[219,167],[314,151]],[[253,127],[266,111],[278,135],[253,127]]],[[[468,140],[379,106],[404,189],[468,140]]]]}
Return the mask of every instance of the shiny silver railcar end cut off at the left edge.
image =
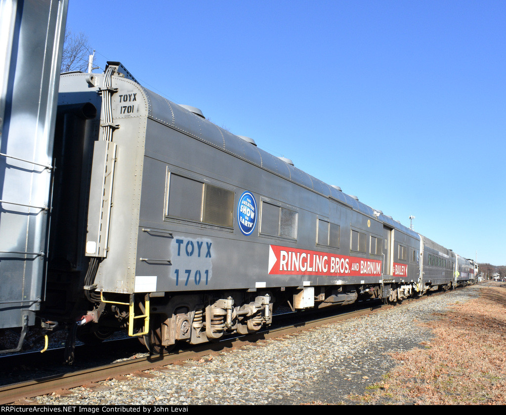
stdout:
{"type": "Polygon", "coordinates": [[[23,327],[23,336],[34,324],[45,295],[53,137],[67,5],[66,0],[0,4],[0,49],[5,57],[0,75],[0,328],[23,327]]]}

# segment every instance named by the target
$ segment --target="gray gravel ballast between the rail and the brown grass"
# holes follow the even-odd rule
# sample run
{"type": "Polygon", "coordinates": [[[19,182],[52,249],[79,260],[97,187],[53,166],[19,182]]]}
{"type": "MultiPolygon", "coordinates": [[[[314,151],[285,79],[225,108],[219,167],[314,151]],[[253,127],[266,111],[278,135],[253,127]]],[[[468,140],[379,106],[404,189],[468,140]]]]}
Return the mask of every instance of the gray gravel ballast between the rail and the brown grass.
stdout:
{"type": "MultiPolygon", "coordinates": [[[[341,404],[398,364],[388,353],[428,345],[418,322],[479,295],[473,285],[301,334],[262,341],[183,365],[32,398],[58,405],[341,404]],[[149,376],[149,375],[147,375],[149,376]]],[[[402,363],[402,362],[401,362],[402,363]]]]}

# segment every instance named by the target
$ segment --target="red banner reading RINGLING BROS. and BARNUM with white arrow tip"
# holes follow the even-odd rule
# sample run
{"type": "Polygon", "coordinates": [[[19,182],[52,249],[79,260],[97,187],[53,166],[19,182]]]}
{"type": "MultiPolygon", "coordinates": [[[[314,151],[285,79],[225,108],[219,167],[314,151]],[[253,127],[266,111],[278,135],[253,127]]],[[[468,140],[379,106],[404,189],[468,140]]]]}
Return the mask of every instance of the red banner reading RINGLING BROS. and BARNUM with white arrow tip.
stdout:
{"type": "Polygon", "coordinates": [[[299,250],[286,246],[269,246],[269,274],[381,276],[382,262],[366,258],[335,255],[327,252],[299,250]]]}

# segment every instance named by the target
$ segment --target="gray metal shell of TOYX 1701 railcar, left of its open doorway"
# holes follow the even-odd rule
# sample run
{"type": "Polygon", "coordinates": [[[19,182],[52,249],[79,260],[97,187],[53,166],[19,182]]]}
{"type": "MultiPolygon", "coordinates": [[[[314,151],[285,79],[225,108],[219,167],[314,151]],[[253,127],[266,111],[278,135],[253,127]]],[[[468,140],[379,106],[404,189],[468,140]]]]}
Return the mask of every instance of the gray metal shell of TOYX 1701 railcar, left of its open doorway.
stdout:
{"type": "MultiPolygon", "coordinates": [[[[91,88],[86,77],[86,74],[62,75],[60,104],[77,103],[72,99],[83,102],[83,92],[93,97],[87,101],[97,104],[98,88],[91,88]],[[77,84],[80,87],[76,93],[77,84]]],[[[344,226],[339,247],[335,248],[317,244],[316,229],[317,219],[336,224],[351,223],[353,230],[367,232],[368,237],[374,235],[381,240],[383,224],[369,206],[353,197],[129,79],[114,79],[113,85],[118,91],[113,95],[112,108],[118,128],[113,133],[113,142],[117,145],[111,196],[113,208],[107,253],[104,254],[107,258],[99,267],[95,280],[97,289],[134,293],[136,285],[149,284],[149,291],[174,292],[381,281],[381,276],[367,273],[329,278],[323,271],[269,276],[269,245],[381,261],[383,252],[370,254],[368,240],[365,252],[351,251],[350,229],[344,226]],[[120,114],[120,100],[124,98],[116,102],[115,97],[127,95],[135,96],[136,101],[129,104],[135,106],[134,112],[120,114]],[[230,212],[233,220],[220,226],[198,221],[198,218],[172,216],[167,204],[171,177],[175,175],[192,183],[233,192],[230,212]],[[244,191],[254,196],[259,215],[255,232],[249,235],[241,233],[237,223],[237,202],[244,191]],[[260,219],[264,203],[297,215],[297,224],[293,225],[296,237],[264,232],[260,219]],[[234,255],[229,255],[232,251],[234,255]],[[180,270],[179,281],[174,270],[180,270]],[[181,284],[185,270],[191,270],[191,279],[181,284]],[[205,272],[207,280],[202,281],[202,285],[191,283],[195,281],[195,271],[200,271],[202,280],[205,272]],[[150,278],[153,276],[156,281],[150,278]]],[[[101,81],[102,77],[96,76],[96,82],[100,84],[101,81]]],[[[91,193],[94,190],[92,188],[91,193]]],[[[181,210],[190,210],[191,206],[201,203],[200,195],[196,197],[188,192],[184,197],[187,205],[181,210]]],[[[391,226],[403,228],[398,223],[391,226]]],[[[90,237],[89,233],[88,243],[90,237]]],[[[411,232],[411,237],[416,234],[411,232]]]]}

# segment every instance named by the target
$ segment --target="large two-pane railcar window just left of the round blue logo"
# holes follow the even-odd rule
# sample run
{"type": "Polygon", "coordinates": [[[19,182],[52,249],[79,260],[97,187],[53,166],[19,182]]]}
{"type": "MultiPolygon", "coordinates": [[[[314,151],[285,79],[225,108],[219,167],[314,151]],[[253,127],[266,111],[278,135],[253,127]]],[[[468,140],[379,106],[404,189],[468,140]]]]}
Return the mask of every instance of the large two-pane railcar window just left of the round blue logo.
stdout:
{"type": "Polygon", "coordinates": [[[233,226],[234,192],[171,173],[166,216],[233,226]]]}

